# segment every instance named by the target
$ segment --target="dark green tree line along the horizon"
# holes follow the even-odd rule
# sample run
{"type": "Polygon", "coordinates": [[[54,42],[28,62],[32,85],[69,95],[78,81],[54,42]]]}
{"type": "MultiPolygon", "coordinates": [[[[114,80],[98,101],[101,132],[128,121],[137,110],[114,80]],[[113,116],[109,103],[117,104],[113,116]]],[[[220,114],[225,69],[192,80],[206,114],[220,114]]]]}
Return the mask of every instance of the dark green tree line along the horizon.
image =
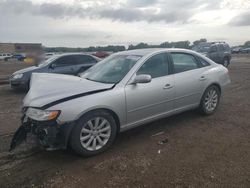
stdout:
{"type": "MultiPolygon", "coordinates": [[[[142,48],[185,48],[192,49],[193,46],[199,43],[207,42],[207,39],[202,38],[191,43],[190,41],[177,41],[177,42],[163,42],[159,45],[147,44],[140,42],[136,45],[129,45],[127,50],[142,49],[142,48]]],[[[239,47],[250,47],[250,41],[246,41],[243,45],[239,47]]],[[[96,51],[109,51],[118,52],[126,50],[125,46],[121,45],[108,45],[108,46],[90,46],[88,48],[68,48],[68,47],[44,47],[45,52],[96,52],[96,51]]]]}

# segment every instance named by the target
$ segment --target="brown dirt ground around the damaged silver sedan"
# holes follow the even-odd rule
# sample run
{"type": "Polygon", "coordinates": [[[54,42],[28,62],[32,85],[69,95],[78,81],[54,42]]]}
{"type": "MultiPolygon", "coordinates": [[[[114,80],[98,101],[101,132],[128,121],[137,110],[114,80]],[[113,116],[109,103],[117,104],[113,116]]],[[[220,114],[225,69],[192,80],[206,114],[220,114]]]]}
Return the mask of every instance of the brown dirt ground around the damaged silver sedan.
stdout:
{"type": "MultiPolygon", "coordinates": [[[[5,66],[0,75],[14,71],[5,66]]],[[[229,72],[214,115],[189,111],[147,124],[91,158],[27,144],[9,153],[25,94],[0,86],[0,187],[250,187],[250,57],[234,57],[229,72]]]]}

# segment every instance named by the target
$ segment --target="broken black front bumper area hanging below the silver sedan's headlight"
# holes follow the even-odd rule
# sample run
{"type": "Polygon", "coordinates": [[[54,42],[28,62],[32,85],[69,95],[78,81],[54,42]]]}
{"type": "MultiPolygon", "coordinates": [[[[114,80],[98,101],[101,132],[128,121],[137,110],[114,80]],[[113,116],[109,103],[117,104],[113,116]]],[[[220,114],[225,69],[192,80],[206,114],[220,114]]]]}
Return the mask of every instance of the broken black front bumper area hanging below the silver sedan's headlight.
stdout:
{"type": "Polygon", "coordinates": [[[10,151],[26,140],[28,133],[35,135],[40,145],[47,150],[66,149],[74,126],[74,122],[59,125],[56,121],[39,122],[25,115],[21,122],[12,138],[10,151]]]}

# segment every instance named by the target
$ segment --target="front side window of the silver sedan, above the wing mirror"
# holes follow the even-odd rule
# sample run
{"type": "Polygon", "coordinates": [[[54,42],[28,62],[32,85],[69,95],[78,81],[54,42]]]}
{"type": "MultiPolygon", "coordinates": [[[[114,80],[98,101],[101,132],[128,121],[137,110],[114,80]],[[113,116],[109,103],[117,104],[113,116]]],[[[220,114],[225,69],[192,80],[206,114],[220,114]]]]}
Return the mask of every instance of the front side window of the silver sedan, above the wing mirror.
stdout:
{"type": "Polygon", "coordinates": [[[137,75],[148,74],[152,78],[166,76],[169,73],[167,55],[161,53],[149,58],[137,71],[137,75]]]}

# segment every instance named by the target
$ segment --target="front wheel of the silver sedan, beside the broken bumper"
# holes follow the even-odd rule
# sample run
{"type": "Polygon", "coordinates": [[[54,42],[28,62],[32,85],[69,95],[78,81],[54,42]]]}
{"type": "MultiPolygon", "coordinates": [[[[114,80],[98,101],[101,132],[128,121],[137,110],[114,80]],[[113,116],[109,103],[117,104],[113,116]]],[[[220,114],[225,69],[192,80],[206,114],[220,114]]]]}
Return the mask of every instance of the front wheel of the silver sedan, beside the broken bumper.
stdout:
{"type": "Polygon", "coordinates": [[[82,116],[71,133],[70,145],[82,156],[97,155],[109,148],[117,134],[111,114],[98,110],[82,116]]]}

